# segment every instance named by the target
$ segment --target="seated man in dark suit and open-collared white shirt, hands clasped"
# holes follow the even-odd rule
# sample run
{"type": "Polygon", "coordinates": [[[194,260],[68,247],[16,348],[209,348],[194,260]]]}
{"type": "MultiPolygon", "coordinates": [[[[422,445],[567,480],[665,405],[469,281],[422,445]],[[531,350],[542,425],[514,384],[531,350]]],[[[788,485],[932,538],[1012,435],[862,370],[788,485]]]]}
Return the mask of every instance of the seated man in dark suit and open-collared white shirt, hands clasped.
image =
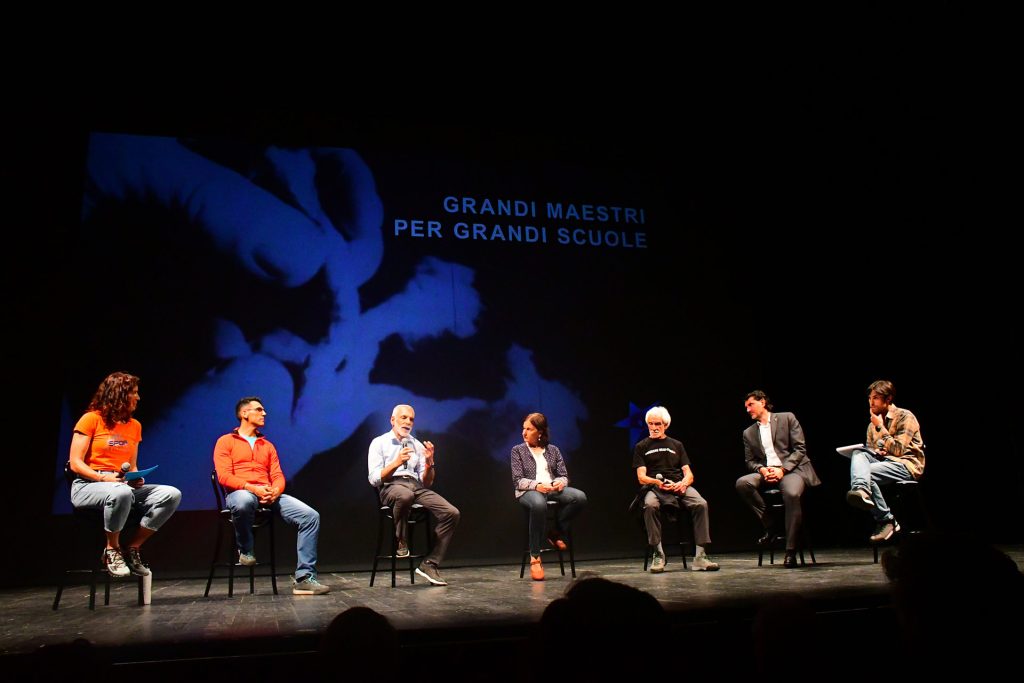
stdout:
{"type": "Polygon", "coordinates": [[[797,566],[797,538],[803,510],[800,499],[806,486],[817,486],[821,481],[814,472],[804,430],[793,413],[772,413],[768,395],[760,389],[746,394],[743,401],[746,414],[754,424],[743,430],[743,457],[750,474],[736,479],[736,493],[764,525],[765,535],[758,541],[771,541],[772,519],[767,513],[760,489],[778,487],[785,505],[785,560],[782,566],[797,566]]]}

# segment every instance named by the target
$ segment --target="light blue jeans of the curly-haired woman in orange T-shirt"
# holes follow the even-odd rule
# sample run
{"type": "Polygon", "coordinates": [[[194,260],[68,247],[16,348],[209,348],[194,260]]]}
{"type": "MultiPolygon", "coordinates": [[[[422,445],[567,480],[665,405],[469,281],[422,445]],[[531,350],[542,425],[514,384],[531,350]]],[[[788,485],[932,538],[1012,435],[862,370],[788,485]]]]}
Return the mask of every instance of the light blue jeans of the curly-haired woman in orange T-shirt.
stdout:
{"type": "Polygon", "coordinates": [[[132,509],[142,515],[139,525],[156,531],[178,509],[181,492],[165,484],[142,484],[132,488],[124,482],[75,479],[71,504],[76,508],[102,508],[103,528],[120,531],[132,509]]]}

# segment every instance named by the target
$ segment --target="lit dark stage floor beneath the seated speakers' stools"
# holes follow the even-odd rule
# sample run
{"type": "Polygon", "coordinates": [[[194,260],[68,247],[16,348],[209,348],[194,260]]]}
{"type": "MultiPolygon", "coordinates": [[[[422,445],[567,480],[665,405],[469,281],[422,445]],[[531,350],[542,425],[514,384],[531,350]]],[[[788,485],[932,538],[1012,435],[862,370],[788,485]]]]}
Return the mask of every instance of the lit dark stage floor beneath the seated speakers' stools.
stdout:
{"type": "MultiPolygon", "coordinates": [[[[1024,548],[1001,550],[1024,566],[1024,548]]],[[[578,562],[577,570],[647,591],[680,624],[727,618],[750,624],[768,597],[779,596],[799,596],[817,613],[888,606],[889,584],[870,549],[826,549],[816,556],[816,565],[799,569],[782,568],[779,555],[775,565],[766,555],[758,567],[756,553],[740,553],[717,556],[722,568],[715,572],[683,570],[678,555],[660,574],[644,572],[639,559],[578,562]]],[[[213,650],[218,656],[308,652],[328,624],[355,605],[386,615],[411,645],[429,638],[515,639],[570,585],[570,577],[559,575],[557,562],[546,560],[545,567],[544,582],[530,581],[528,572],[520,580],[518,565],[442,567],[447,587],[422,579],[410,585],[408,572],[399,573],[396,588],[390,587],[389,571],[378,573],[373,588],[367,571],[326,573],[321,581],[332,588],[326,596],[293,596],[288,577],[279,578],[279,595],[271,593],[268,578],[257,578],[250,595],[248,579],[237,578],[232,598],[226,579],[215,580],[204,598],[205,580],[155,575],[152,604],[138,606],[136,584],[120,581],[112,587],[110,605],[102,604],[101,588],[97,591],[94,611],[88,609],[88,586],[67,588],[57,610],[51,609],[54,587],[6,590],[0,592],[0,654],[8,661],[24,659],[42,645],[76,638],[105,648],[117,664],[210,656],[213,650]]]]}

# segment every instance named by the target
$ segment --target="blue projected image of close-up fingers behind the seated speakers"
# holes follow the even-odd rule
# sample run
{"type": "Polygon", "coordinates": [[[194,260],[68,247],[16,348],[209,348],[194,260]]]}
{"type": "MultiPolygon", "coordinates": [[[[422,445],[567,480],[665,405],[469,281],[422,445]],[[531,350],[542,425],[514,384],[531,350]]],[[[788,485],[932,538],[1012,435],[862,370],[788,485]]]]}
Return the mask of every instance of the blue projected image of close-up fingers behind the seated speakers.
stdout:
{"type": "MultiPolygon", "coordinates": [[[[158,324],[112,331],[81,312],[76,319],[85,321],[90,343],[69,362],[96,382],[117,370],[140,376],[148,412],[140,416],[139,467],[159,462],[155,483],[181,489],[182,509],[209,507],[213,444],[238,426],[232,412],[244,395],[262,397],[266,434],[290,477],[360,427],[385,431],[396,403],[412,403],[417,425],[431,434],[458,429],[472,412],[543,408],[559,427],[562,450],[580,444],[583,400],[542,376],[531,349],[512,341],[505,345],[499,396],[427,395],[401,381],[372,380],[386,340],[397,337],[407,347],[471,342],[486,302],[471,265],[417,254],[404,282],[366,304],[360,287],[387,263],[385,207],[373,171],[354,151],[236,145],[223,152],[194,140],[93,134],[86,171],[83,249],[93,263],[105,254],[128,264],[127,282],[112,283],[113,291],[130,290],[134,302],[119,323],[158,324]],[[139,251],[156,264],[144,263],[139,251]],[[145,364],[151,370],[138,368],[145,364]],[[166,376],[160,382],[158,373],[166,376]]],[[[117,307],[112,298],[102,303],[117,307]]],[[[75,399],[66,394],[58,468],[94,388],[80,381],[75,399]]],[[[505,432],[485,445],[506,462],[511,444],[505,432]]],[[[351,457],[365,463],[365,445],[351,457]]],[[[57,488],[54,511],[69,510],[57,488]]]]}

